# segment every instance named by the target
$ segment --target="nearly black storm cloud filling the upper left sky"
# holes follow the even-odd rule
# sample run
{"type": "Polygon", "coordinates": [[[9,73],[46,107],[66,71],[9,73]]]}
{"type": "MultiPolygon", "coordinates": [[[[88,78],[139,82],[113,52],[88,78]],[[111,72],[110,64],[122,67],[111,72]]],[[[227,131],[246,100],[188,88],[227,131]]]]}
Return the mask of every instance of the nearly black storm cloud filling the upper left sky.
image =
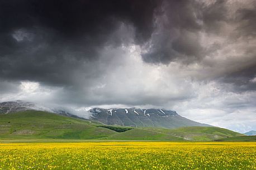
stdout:
{"type": "MultiPolygon", "coordinates": [[[[103,47],[148,40],[159,3],[1,1],[0,75],[4,79],[72,84],[75,70],[84,63],[97,64],[103,47]],[[131,25],[135,36],[127,37],[124,29],[118,32],[122,25],[131,25]]],[[[86,66],[87,70],[98,67],[86,66]]],[[[83,70],[85,77],[87,70],[83,70]]]]}

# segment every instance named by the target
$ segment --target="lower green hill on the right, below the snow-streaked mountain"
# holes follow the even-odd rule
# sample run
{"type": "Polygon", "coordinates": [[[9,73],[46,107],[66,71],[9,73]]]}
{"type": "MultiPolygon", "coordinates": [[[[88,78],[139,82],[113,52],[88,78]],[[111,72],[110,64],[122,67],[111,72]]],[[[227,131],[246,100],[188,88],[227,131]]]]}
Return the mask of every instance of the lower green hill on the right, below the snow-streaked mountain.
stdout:
{"type": "Polygon", "coordinates": [[[217,127],[182,127],[177,129],[143,128],[117,133],[106,139],[119,140],[215,140],[243,134],[217,127]]]}

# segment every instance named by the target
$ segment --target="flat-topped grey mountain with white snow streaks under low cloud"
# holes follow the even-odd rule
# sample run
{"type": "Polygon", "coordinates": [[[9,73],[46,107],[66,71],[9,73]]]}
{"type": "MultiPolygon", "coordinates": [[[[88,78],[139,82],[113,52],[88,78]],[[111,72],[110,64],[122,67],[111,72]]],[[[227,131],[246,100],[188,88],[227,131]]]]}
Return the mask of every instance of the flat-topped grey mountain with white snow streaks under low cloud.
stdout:
{"type": "Polygon", "coordinates": [[[176,111],[165,109],[102,109],[93,108],[91,120],[97,120],[106,125],[120,125],[127,127],[157,127],[157,128],[178,128],[178,127],[210,127],[211,125],[198,123],[184,118],[176,111]]]}

